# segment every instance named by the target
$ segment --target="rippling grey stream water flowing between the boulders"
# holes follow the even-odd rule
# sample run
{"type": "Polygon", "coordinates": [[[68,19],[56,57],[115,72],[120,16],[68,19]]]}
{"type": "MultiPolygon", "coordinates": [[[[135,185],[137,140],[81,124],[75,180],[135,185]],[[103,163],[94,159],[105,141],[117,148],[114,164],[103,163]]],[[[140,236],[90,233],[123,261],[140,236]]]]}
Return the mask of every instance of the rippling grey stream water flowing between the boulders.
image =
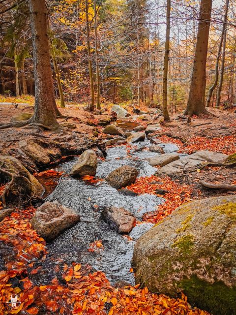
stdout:
{"type": "MultiPolygon", "coordinates": [[[[139,177],[153,175],[156,168],[148,164],[147,158],[155,156],[156,153],[148,150],[135,152],[137,148],[149,145],[148,140],[133,144],[129,152],[125,145],[109,148],[106,160],[98,161],[96,178],[105,179],[111,171],[122,165],[134,166],[139,171],[139,177]]],[[[166,153],[178,150],[173,144],[163,143],[160,146],[166,153]]],[[[77,158],[73,158],[61,163],[56,170],[68,174],[76,161],[77,158]]],[[[157,205],[163,203],[163,198],[122,192],[112,188],[106,181],[91,184],[79,178],[62,176],[58,186],[46,200],[57,200],[62,205],[74,209],[80,215],[81,221],[48,244],[48,255],[38,279],[41,284],[48,283],[56,276],[56,266],[62,262],[68,265],[80,262],[104,271],[112,284],[121,280],[134,283],[133,273],[129,272],[133,247],[137,239],[153,224],[137,224],[127,238],[119,235],[101,220],[99,207],[124,207],[140,221],[144,213],[154,211],[157,205]],[[102,241],[104,248],[89,252],[89,245],[97,240],[102,241]]]]}

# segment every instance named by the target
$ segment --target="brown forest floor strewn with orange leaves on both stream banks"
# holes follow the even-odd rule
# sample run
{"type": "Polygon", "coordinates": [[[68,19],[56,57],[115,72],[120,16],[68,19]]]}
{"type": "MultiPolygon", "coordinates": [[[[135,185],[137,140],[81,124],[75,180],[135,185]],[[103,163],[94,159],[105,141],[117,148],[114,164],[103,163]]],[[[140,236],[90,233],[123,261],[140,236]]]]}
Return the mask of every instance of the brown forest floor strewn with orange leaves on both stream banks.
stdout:
{"type": "MultiPolygon", "coordinates": [[[[127,105],[126,109],[132,114],[132,106],[127,105]]],[[[152,134],[152,139],[176,144],[179,153],[210,150],[231,155],[236,151],[236,114],[233,110],[209,109],[211,114],[193,117],[191,123],[187,123],[186,117],[176,114],[171,116],[171,122],[164,123],[156,109],[145,106],[141,109],[146,112],[145,115],[132,114],[123,121],[135,121],[143,126],[160,124],[162,128],[152,134]]],[[[29,161],[19,151],[20,140],[36,137],[56,141],[59,137],[61,142],[70,143],[72,147],[86,147],[89,143],[109,138],[109,135],[102,133],[103,126],[99,126],[99,122],[110,118],[110,106],[103,109],[102,114],[98,111],[89,113],[76,105],[68,105],[60,111],[69,117],[59,119],[59,123],[64,126],[60,135],[51,131],[38,134],[38,130],[29,127],[1,129],[0,154],[15,155],[28,167],[29,161]]],[[[0,123],[11,122],[13,116],[32,112],[33,106],[0,106],[0,123]]],[[[34,172],[39,171],[35,165],[31,164],[30,167],[34,172]]],[[[178,177],[162,177],[161,180],[161,188],[169,191],[164,195],[166,202],[154,214],[146,214],[144,221],[156,223],[172,213],[177,206],[193,198],[236,193],[233,189],[208,189],[201,185],[204,180],[214,185],[235,186],[236,168],[225,165],[209,165],[178,177]]],[[[0,186],[0,193],[3,188],[0,186]]],[[[156,193],[157,187],[151,176],[137,179],[129,189],[138,193],[156,193]]],[[[48,285],[34,285],[30,275],[40,272],[40,268],[35,266],[47,254],[45,241],[32,230],[30,224],[34,212],[32,206],[23,210],[16,207],[10,217],[0,222],[0,241],[5,246],[0,245],[0,251],[7,253],[8,257],[0,271],[0,314],[208,314],[191,308],[184,295],[174,299],[163,294],[152,294],[146,287],[140,288],[139,285],[115,288],[104,273],[89,272],[87,266],[79,263],[64,265],[63,283],[55,278],[48,285]],[[13,309],[5,304],[10,294],[18,294],[22,302],[13,309]]]]}

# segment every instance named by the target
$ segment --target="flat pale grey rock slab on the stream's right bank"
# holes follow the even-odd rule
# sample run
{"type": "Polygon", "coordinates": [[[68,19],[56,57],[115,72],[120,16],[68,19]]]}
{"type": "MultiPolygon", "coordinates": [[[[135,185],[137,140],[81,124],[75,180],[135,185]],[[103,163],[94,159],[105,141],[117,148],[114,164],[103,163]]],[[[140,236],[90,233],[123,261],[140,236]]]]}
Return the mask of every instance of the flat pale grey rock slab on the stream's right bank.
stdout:
{"type": "Polygon", "coordinates": [[[185,158],[176,160],[166,166],[161,167],[157,174],[160,175],[180,175],[193,169],[201,168],[208,162],[220,163],[228,158],[227,155],[212,151],[198,151],[185,158]]]}

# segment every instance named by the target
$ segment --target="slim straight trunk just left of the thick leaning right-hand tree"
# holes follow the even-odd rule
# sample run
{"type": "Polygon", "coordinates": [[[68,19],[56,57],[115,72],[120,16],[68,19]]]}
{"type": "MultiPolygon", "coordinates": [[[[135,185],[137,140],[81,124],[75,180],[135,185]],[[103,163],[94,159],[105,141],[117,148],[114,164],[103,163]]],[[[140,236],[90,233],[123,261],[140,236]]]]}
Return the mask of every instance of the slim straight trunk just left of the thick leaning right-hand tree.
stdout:
{"type": "Polygon", "coordinates": [[[170,15],[171,15],[171,0],[167,0],[166,5],[166,43],[165,43],[165,55],[164,55],[164,67],[163,67],[163,88],[162,88],[162,110],[164,120],[170,121],[170,116],[167,108],[167,77],[168,77],[168,62],[170,52],[170,15]]]}

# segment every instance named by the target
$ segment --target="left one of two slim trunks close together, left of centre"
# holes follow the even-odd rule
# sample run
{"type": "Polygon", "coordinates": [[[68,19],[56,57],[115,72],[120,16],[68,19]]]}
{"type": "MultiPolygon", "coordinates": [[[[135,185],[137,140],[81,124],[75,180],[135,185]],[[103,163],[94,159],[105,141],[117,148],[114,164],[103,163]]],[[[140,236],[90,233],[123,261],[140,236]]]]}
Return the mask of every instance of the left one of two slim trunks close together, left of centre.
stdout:
{"type": "Polygon", "coordinates": [[[86,11],[87,49],[88,49],[88,61],[89,61],[89,78],[90,78],[90,90],[91,90],[91,105],[89,106],[89,110],[92,112],[94,110],[94,86],[93,86],[91,49],[90,49],[89,3],[88,3],[88,0],[85,1],[85,11],[86,11]]]}

